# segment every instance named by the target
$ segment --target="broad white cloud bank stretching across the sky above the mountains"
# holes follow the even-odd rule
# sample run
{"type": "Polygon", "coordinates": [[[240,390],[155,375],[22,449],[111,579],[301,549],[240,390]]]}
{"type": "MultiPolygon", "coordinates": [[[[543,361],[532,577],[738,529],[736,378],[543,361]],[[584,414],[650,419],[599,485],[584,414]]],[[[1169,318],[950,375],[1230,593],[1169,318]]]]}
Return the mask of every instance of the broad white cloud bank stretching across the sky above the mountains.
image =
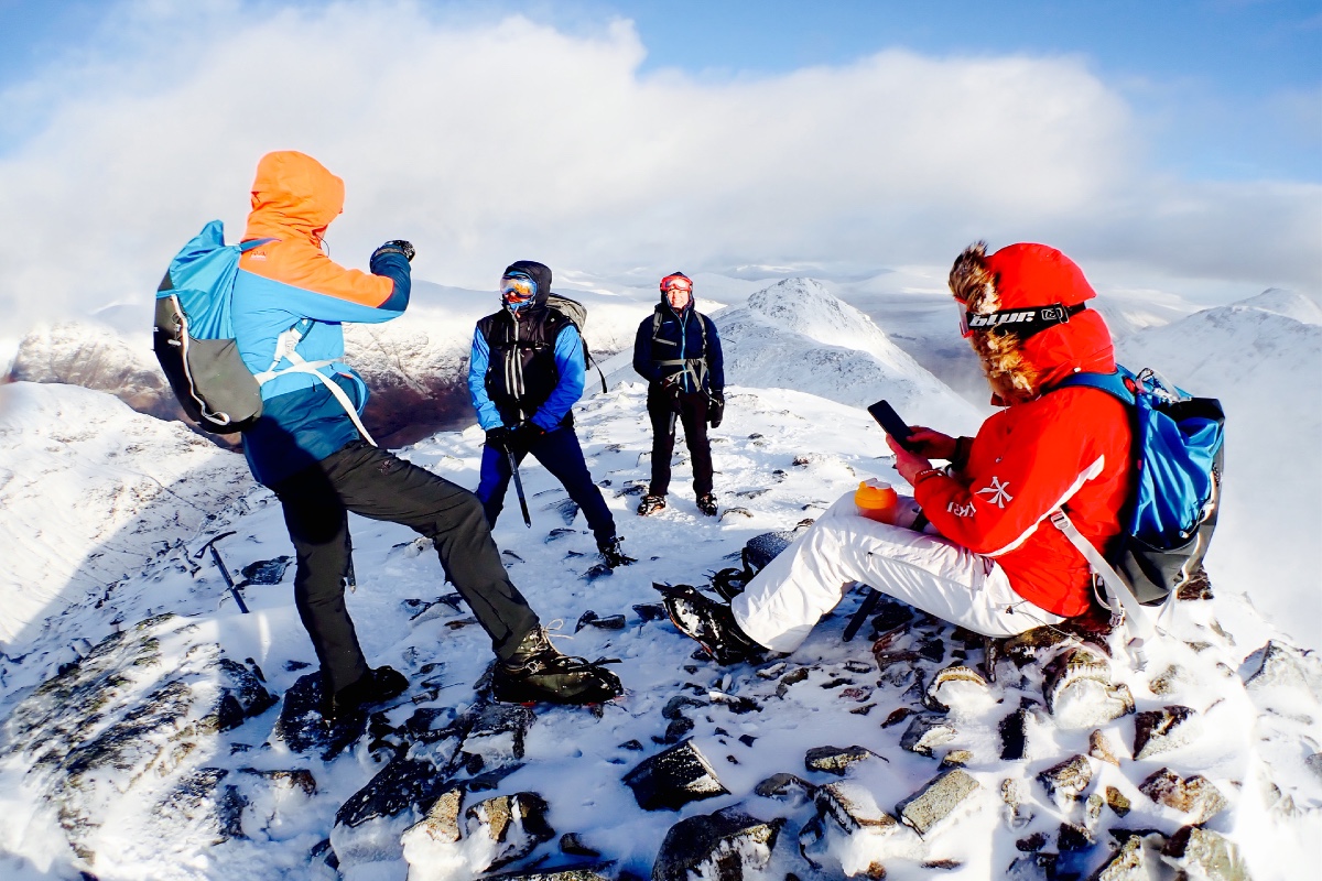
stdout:
{"type": "Polygon", "coordinates": [[[570,36],[407,3],[116,20],[98,54],[0,95],[44,120],[0,159],[9,333],[145,299],[205,221],[242,231],[258,157],[291,148],[346,180],[336,259],[406,236],[419,275],[476,288],[517,258],[607,279],[857,271],[948,265],[974,238],[1318,285],[1322,189],[1154,180],[1129,108],[1077,58],[884,52],[711,83],[640,75],[623,21],[570,36]]]}

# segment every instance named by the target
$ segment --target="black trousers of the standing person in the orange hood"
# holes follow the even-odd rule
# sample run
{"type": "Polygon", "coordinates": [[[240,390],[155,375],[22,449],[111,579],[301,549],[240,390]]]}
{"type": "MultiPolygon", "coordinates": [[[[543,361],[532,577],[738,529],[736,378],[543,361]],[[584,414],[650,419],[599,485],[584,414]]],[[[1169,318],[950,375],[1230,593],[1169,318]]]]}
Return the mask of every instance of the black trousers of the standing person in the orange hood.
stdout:
{"type": "Polygon", "coordinates": [[[537,614],[510,582],[483,506],[468,490],[364,441],[348,444],[271,489],[284,506],[297,555],[293,601],[328,692],[368,672],[344,602],[349,511],[401,523],[431,539],[446,575],[501,658],[509,658],[537,627],[537,614]]]}

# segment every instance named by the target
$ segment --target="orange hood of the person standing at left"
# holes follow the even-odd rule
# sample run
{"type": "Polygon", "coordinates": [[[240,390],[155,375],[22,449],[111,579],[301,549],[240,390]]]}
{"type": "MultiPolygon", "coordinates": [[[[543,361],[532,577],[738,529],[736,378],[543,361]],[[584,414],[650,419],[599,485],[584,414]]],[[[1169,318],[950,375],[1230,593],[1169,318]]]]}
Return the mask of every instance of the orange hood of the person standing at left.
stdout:
{"type": "Polygon", "coordinates": [[[344,181],[305,153],[278,151],[256,164],[253,211],[245,240],[307,238],[321,234],[344,211],[344,181]]]}

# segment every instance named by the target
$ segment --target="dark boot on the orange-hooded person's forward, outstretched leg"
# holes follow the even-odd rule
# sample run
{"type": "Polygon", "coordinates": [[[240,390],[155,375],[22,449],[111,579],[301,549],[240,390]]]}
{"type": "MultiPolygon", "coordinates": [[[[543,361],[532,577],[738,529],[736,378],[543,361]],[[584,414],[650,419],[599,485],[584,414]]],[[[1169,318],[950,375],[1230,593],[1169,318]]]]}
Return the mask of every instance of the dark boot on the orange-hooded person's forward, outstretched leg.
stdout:
{"type": "Polygon", "coordinates": [[[604,663],[562,655],[538,626],[509,660],[496,662],[492,697],[505,704],[602,704],[624,693],[604,663]]]}

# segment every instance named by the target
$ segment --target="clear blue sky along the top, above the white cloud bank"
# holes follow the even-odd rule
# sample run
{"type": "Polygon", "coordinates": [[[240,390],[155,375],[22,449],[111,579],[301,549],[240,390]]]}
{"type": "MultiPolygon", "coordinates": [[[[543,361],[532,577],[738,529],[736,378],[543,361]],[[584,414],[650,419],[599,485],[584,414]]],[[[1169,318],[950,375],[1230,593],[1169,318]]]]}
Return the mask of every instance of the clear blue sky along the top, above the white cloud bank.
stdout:
{"type": "MultiPolygon", "coordinates": [[[[253,15],[324,3],[245,0],[253,15]]],[[[1208,180],[1322,181],[1322,0],[566,0],[422,3],[436,18],[518,12],[570,32],[631,18],[641,70],[711,81],[842,65],[882,49],[1069,54],[1132,102],[1154,161],[1208,180]]],[[[118,4],[0,0],[0,87],[95,50],[118,4]]]]}

